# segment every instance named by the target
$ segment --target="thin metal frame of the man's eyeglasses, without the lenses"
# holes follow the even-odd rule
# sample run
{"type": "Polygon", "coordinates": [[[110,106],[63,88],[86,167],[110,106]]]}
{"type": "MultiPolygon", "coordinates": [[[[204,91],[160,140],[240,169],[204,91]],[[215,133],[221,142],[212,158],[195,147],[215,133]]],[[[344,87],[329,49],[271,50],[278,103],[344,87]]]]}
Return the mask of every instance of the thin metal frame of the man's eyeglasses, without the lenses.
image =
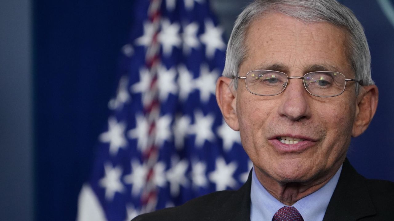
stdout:
{"type": "MultiPolygon", "coordinates": [[[[253,93],[253,92],[251,92],[250,90],[249,90],[249,88],[247,87],[247,85],[246,85],[246,81],[245,81],[245,86],[246,86],[246,89],[250,92],[250,93],[252,93],[252,94],[256,94],[256,95],[258,95],[258,96],[275,96],[275,95],[278,95],[278,94],[281,94],[282,92],[284,92],[284,90],[286,89],[286,87],[287,87],[287,85],[288,85],[288,80],[289,79],[294,79],[294,78],[298,78],[298,79],[305,79],[305,75],[307,75],[307,74],[311,74],[311,73],[322,73],[322,72],[330,72],[330,73],[337,73],[337,74],[341,74],[342,76],[344,76],[345,77],[345,75],[344,74],[342,74],[342,73],[340,73],[340,72],[334,72],[334,71],[314,71],[314,72],[309,72],[309,73],[306,73],[306,74],[304,74],[304,76],[303,77],[289,77],[286,73],[284,73],[284,72],[280,72],[280,71],[273,71],[273,70],[253,70],[253,71],[250,71],[250,72],[247,72],[247,74],[246,74],[246,76],[245,77],[241,77],[241,76],[235,76],[235,75],[233,75],[232,76],[232,79],[234,79],[234,78],[236,78],[236,79],[244,79],[244,80],[246,80],[246,77],[247,77],[247,75],[249,74],[249,73],[251,73],[251,72],[255,72],[255,71],[269,71],[269,72],[277,72],[277,73],[282,73],[282,74],[285,74],[287,77],[287,81],[286,81],[286,83],[284,83],[284,87],[283,87],[283,90],[281,91],[281,92],[279,92],[279,93],[277,93],[277,94],[272,94],[272,95],[262,95],[262,94],[256,94],[256,93],[253,93]]],[[[359,84],[361,84],[360,83],[360,80],[359,79],[354,79],[354,78],[345,78],[345,86],[344,86],[344,89],[342,90],[342,92],[340,92],[340,94],[336,94],[336,95],[332,95],[332,96],[318,96],[318,95],[314,95],[314,94],[312,94],[312,93],[310,93],[309,92],[309,90],[307,89],[307,85],[305,85],[305,81],[303,81],[303,85],[304,85],[304,88],[305,88],[305,90],[307,90],[307,92],[310,94],[310,95],[313,95],[313,96],[316,96],[316,97],[320,97],[320,98],[331,98],[331,97],[336,97],[336,96],[339,96],[339,95],[341,95],[344,91],[345,91],[345,88],[346,88],[346,82],[348,82],[348,81],[355,81],[355,82],[357,82],[357,83],[359,83],[359,84]]]]}

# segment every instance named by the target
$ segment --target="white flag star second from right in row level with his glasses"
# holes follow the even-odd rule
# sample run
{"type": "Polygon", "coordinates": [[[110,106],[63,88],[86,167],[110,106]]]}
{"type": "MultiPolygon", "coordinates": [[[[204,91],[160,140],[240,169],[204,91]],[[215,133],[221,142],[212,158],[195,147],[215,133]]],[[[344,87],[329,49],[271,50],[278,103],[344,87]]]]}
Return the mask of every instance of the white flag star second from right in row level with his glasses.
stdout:
{"type": "Polygon", "coordinates": [[[185,101],[188,99],[190,92],[194,90],[193,74],[184,64],[178,66],[178,73],[179,99],[185,101]]]}

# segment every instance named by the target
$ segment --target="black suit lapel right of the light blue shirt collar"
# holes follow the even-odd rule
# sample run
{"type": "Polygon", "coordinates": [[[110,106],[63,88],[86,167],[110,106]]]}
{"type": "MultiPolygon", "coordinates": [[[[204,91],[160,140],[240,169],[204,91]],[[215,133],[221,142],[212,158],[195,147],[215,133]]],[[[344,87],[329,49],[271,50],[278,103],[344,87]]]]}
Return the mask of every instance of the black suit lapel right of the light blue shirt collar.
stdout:
{"type": "Polygon", "coordinates": [[[350,221],[376,214],[365,178],[346,158],[323,221],[350,221]]]}

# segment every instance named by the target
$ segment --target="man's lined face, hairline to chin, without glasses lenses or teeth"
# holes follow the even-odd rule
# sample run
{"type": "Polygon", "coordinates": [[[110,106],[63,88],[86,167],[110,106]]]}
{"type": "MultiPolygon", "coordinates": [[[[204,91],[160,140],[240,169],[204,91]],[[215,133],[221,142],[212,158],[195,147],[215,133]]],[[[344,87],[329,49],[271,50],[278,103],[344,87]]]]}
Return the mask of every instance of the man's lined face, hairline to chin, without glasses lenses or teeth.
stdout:
{"type": "MultiPolygon", "coordinates": [[[[238,74],[268,69],[302,77],[326,70],[354,78],[345,44],[345,32],[332,24],[306,24],[274,13],[249,26],[247,56],[238,74]]],[[[251,94],[245,80],[238,81],[235,106],[242,144],[258,177],[308,183],[336,172],[350,143],[356,111],[354,83],[347,83],[339,96],[320,98],[308,94],[302,79],[290,79],[276,96],[251,94]],[[282,144],[277,138],[283,136],[304,141],[282,144]]]]}

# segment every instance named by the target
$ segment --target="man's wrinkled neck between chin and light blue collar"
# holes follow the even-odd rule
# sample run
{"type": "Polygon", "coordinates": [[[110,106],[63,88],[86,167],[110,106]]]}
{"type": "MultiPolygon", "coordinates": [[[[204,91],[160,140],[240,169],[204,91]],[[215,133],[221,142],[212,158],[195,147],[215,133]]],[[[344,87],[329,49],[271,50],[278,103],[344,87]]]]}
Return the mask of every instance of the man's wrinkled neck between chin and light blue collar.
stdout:
{"type": "Polygon", "coordinates": [[[268,174],[256,168],[256,177],[264,188],[281,203],[292,206],[294,203],[322,188],[338,171],[340,165],[333,172],[326,173],[308,182],[278,182],[268,174]]]}

